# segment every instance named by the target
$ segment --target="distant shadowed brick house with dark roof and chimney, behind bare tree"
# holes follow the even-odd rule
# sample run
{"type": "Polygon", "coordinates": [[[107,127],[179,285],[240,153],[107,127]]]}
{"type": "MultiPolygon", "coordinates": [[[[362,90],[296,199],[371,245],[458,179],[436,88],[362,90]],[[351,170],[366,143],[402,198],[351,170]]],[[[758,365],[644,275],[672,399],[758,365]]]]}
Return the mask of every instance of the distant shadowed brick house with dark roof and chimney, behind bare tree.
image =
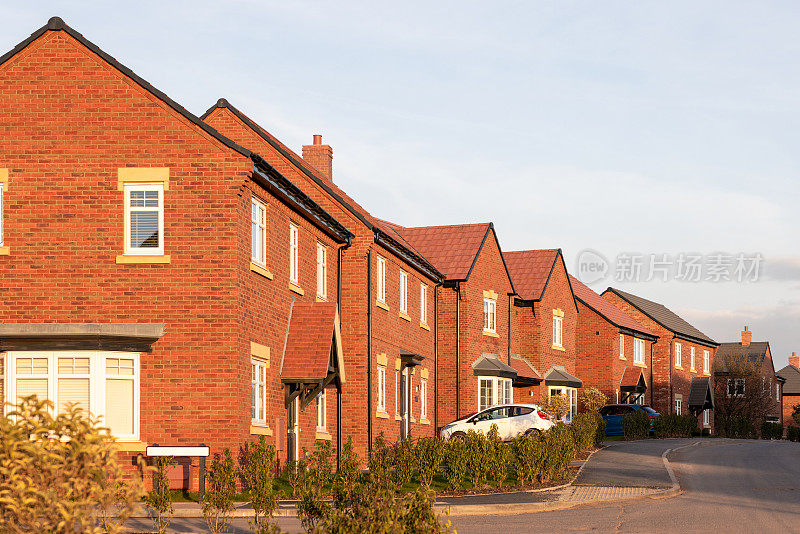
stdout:
{"type": "MultiPolygon", "coordinates": [[[[768,341],[753,341],[753,332],[745,326],[741,341],[720,343],[714,357],[714,380],[717,404],[723,407],[723,399],[739,399],[744,403],[758,392],[759,401],[753,403],[755,411],[762,412],[767,421],[783,423],[781,386],[783,376],[775,373],[772,351],[768,341]],[[747,367],[745,373],[736,372],[739,364],[747,367]],[[751,370],[755,376],[751,376],[751,370]]],[[[734,401],[731,401],[733,404],[734,401]]],[[[722,410],[718,410],[722,413],[722,410]]],[[[760,428],[762,421],[753,421],[760,428]]]]}

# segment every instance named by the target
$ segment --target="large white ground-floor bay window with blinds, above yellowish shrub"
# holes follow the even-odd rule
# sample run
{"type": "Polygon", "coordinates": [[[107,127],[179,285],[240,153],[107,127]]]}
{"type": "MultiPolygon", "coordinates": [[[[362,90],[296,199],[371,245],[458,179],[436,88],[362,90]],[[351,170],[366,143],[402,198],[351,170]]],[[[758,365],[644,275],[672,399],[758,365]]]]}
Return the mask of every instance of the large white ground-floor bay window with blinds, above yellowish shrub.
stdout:
{"type": "Polygon", "coordinates": [[[74,404],[103,418],[120,441],[139,434],[139,356],[127,352],[12,352],[7,401],[37,395],[58,413],[74,404]]]}

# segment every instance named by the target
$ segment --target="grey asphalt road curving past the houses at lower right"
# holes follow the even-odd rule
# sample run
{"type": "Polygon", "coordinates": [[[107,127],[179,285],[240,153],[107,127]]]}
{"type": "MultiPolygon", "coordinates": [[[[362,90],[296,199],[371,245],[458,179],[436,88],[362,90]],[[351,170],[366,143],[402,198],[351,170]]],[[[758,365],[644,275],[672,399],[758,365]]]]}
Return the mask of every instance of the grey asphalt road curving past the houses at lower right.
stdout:
{"type": "MultiPolygon", "coordinates": [[[[451,516],[459,533],[491,532],[800,532],[800,444],[751,440],[618,442],[595,455],[576,484],[668,487],[661,454],[684,490],[569,510],[518,515],[451,516]],[[643,480],[650,480],[649,483],[643,480]]],[[[487,503],[488,504],[488,503],[487,503]]],[[[300,532],[294,518],[282,529],[300,532]]],[[[134,525],[133,526],[135,530],[134,525]]],[[[143,525],[142,525],[143,526],[143,525]]],[[[202,519],[175,519],[173,532],[204,532],[202,519]]],[[[247,520],[234,532],[248,532],[247,520]]]]}

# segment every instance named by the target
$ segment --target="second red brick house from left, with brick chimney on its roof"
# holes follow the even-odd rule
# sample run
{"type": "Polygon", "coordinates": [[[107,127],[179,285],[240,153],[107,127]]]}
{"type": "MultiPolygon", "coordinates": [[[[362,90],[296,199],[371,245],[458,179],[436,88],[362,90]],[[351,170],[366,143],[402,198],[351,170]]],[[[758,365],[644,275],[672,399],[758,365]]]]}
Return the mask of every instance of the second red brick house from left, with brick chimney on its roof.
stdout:
{"type": "Polygon", "coordinates": [[[354,234],[339,258],[342,344],[351,377],[341,399],[344,435],[362,457],[379,433],[390,441],[433,435],[441,273],[334,183],[333,150],[321,136],[303,146],[300,157],[225,99],[203,120],[257,151],[354,234]]]}

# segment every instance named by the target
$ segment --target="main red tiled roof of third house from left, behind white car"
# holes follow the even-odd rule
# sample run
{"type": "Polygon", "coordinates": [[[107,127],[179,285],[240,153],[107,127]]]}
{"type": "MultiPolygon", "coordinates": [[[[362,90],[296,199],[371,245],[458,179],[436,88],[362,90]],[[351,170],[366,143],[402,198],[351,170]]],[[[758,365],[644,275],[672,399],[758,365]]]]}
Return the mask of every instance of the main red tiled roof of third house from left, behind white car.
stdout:
{"type": "MultiPolygon", "coordinates": [[[[385,221],[383,221],[385,223],[385,221]]],[[[466,280],[491,223],[404,228],[385,223],[448,280],[466,280]]]]}

